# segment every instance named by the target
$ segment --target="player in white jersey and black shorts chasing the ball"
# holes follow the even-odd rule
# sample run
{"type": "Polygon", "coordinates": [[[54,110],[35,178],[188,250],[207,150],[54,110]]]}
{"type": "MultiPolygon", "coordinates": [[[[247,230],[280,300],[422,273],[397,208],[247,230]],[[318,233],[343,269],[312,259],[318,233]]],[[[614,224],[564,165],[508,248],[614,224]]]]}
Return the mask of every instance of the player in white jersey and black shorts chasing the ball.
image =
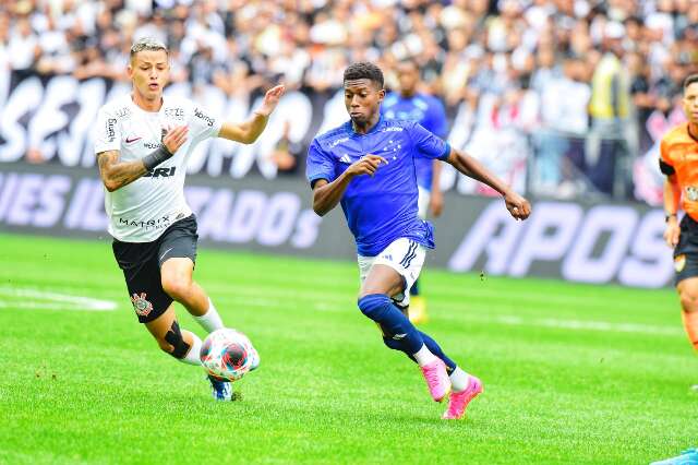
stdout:
{"type": "MultiPolygon", "coordinates": [[[[168,49],[160,41],[143,38],[131,47],[128,74],[133,91],[99,110],[95,153],[107,189],[113,254],[139,321],[164,351],[200,365],[202,342],[180,329],[173,301],[209,333],[224,324],[192,277],[198,236],[196,218],[184,199],[186,162],[207,138],[253,143],[285,88],[269,90],[249,121],[218,121],[189,99],[163,96],[169,70],[168,49]]],[[[229,383],[209,380],[215,398],[231,398],[229,383]]]]}

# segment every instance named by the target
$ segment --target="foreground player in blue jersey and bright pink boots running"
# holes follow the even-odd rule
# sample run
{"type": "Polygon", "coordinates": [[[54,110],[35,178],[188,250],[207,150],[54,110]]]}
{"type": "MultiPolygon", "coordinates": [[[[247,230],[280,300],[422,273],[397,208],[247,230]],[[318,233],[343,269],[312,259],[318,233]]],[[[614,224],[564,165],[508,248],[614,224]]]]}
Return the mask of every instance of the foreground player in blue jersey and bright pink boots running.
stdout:
{"type": "Polygon", "coordinates": [[[485,167],[414,121],[387,120],[383,72],[375,64],[351,64],[344,74],[350,121],[316,136],[308,153],[308,180],[318,215],[341,203],[357,248],[361,290],[359,309],[376,322],[383,342],[414,360],[436,402],[450,394],[443,418],[461,418],[482,382],[448,358],[438,344],[405,314],[409,289],[434,247],[432,226],[417,216],[414,158],[422,154],[452,164],[495,189],[517,219],[526,219],[526,199],[485,167]]]}

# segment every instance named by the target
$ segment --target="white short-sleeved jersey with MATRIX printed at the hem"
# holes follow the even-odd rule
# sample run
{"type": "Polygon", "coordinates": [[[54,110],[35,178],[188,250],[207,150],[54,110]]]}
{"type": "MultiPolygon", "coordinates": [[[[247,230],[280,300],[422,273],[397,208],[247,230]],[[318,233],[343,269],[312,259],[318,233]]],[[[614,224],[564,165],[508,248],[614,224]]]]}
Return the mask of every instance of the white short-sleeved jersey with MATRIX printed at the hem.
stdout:
{"type": "Polygon", "coordinates": [[[172,223],[192,214],[184,199],[186,160],[196,144],[218,135],[220,121],[185,98],[164,97],[159,111],[145,111],[131,95],[105,104],[97,117],[95,153],[119,151],[123,162],[141,159],[161,145],[168,129],[188,126],[174,155],[128,186],[105,193],[109,234],[124,242],[152,242],[172,223]]]}

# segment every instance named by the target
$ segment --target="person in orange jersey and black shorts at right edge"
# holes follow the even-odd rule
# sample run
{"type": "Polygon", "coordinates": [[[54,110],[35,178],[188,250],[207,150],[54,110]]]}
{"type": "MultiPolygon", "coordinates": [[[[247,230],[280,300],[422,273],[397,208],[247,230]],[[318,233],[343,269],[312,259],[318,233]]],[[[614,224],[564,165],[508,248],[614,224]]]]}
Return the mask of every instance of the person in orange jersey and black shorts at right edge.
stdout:
{"type": "MultiPolygon", "coordinates": [[[[661,143],[666,230],[674,248],[676,290],[688,339],[698,350],[698,74],[684,81],[684,111],[688,122],[672,129],[661,143]],[[686,212],[681,223],[678,207],[686,212]]],[[[693,386],[698,390],[698,384],[693,386]]]]}

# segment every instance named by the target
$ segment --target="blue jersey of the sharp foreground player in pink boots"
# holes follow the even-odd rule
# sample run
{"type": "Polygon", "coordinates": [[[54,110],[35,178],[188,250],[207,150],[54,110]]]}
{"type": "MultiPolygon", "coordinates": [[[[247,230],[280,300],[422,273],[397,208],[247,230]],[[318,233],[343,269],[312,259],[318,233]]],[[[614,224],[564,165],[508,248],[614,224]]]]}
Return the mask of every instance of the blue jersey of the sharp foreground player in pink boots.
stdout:
{"type": "Polygon", "coordinates": [[[341,210],[360,255],[375,257],[396,239],[412,239],[434,247],[432,226],[417,216],[418,156],[446,159],[450,146],[419,123],[405,120],[378,122],[366,134],[353,131],[351,121],[313,139],[308,150],[308,180],[332,182],[364,155],[381,155],[373,177],[357,176],[344,196],[341,210]]]}

